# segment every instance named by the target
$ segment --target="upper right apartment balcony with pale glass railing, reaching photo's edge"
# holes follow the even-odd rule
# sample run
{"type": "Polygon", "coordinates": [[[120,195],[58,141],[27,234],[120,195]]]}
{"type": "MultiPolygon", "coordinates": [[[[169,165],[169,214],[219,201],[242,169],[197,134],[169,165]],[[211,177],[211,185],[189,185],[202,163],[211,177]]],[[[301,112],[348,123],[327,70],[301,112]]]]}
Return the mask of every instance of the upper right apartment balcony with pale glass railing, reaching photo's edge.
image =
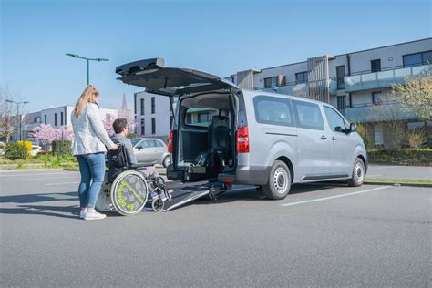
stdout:
{"type": "Polygon", "coordinates": [[[430,75],[431,72],[431,65],[422,65],[347,76],[345,77],[345,92],[391,87],[392,84],[404,83],[406,77],[430,75]]]}

